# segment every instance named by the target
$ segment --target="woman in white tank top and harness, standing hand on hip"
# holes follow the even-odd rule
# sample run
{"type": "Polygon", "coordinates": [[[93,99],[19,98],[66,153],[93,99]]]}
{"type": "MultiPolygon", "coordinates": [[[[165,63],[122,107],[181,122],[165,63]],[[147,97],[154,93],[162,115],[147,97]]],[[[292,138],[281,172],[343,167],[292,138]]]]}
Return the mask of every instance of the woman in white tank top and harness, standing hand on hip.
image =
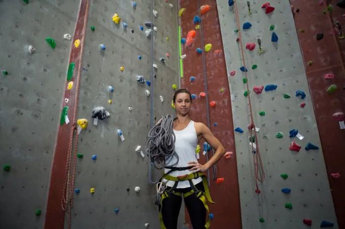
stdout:
{"type": "Polygon", "coordinates": [[[203,123],[196,123],[190,119],[189,110],[192,105],[192,96],[188,90],[177,90],[174,94],[173,103],[177,112],[177,118],[174,120],[173,126],[175,151],[179,156],[179,160],[174,167],[168,167],[169,165],[174,165],[177,161],[176,158],[172,158],[164,170],[163,182],[165,182],[166,190],[168,191],[165,192],[166,195],[163,193],[160,204],[161,217],[164,223],[161,226],[166,229],[177,229],[182,196],[184,196],[193,229],[208,228],[210,222],[206,223],[205,207],[207,205],[205,204],[206,198],[204,196],[211,203],[213,202],[209,195],[207,180],[204,179],[205,176],[201,172],[215,165],[223,157],[225,150],[208,127],[203,123]],[[195,154],[196,146],[201,138],[216,150],[215,155],[204,165],[197,162],[195,154]],[[191,178],[189,174],[192,174],[192,176],[195,174],[195,176],[191,178]],[[174,189],[173,192],[169,194],[169,190],[171,191],[172,189],[174,189]],[[199,191],[201,192],[199,193],[199,191]]]}

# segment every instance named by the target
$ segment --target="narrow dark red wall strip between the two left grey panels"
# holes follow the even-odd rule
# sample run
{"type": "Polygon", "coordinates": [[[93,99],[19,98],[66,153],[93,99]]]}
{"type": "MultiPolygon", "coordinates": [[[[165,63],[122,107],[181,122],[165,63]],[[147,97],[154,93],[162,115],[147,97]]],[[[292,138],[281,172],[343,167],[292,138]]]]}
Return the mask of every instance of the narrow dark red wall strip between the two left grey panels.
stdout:
{"type": "MultiPolygon", "coordinates": [[[[78,20],[76,23],[76,29],[73,36],[73,41],[80,39],[81,46],[83,46],[83,26],[85,22],[85,17],[87,17],[87,0],[81,0],[80,10],[78,14],[78,20]]],[[[63,93],[63,98],[70,98],[68,101],[68,117],[70,117],[70,122],[73,124],[73,114],[75,112],[75,102],[76,102],[76,92],[77,92],[77,78],[78,78],[78,68],[79,60],[81,58],[81,46],[76,48],[72,45],[70,62],[75,62],[75,70],[73,73],[74,86],[71,90],[66,90],[67,83],[64,86],[65,91],[63,93]]],[[[64,106],[64,102],[62,107],[64,106]]],[[[62,188],[64,183],[64,175],[66,168],[67,152],[70,143],[70,134],[72,125],[62,125],[58,127],[57,139],[55,144],[54,158],[51,168],[49,193],[47,200],[47,212],[45,218],[45,229],[61,229],[64,228],[64,218],[65,212],[61,207],[62,198],[62,188]]]]}

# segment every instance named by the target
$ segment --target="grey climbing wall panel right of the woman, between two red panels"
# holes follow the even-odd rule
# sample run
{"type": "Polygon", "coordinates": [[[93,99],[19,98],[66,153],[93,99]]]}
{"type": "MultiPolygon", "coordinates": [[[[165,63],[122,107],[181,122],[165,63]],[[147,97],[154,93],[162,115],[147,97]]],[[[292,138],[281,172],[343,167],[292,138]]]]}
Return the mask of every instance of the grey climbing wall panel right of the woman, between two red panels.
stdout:
{"type": "MultiPolygon", "coordinates": [[[[303,228],[303,219],[312,219],[313,228],[318,228],[322,220],[335,223],[331,191],[327,179],[318,128],[315,121],[313,105],[309,96],[305,77],[302,55],[300,52],[296,28],[293,22],[289,2],[271,2],[275,11],[265,15],[261,9],[264,1],[250,2],[252,14],[248,15],[245,1],[237,1],[239,26],[243,39],[245,61],[248,68],[248,82],[251,90],[251,101],[255,125],[260,128],[258,134],[263,168],[266,179],[259,182],[261,194],[256,194],[255,176],[251,146],[249,145],[250,110],[247,90],[243,83],[244,72],[239,42],[235,11],[227,1],[217,1],[219,20],[223,37],[224,53],[229,74],[229,87],[234,127],[240,127],[245,132],[235,132],[237,153],[238,179],[241,202],[243,228],[303,228]],[[242,25],[250,22],[252,28],[243,30],[242,25]],[[271,42],[273,30],[279,36],[277,43],[271,42]],[[259,54],[257,37],[262,41],[264,52],[259,54]],[[253,51],[245,49],[247,43],[255,43],[253,51]],[[257,69],[251,69],[257,64],[257,69]],[[263,91],[257,95],[253,86],[278,85],[275,91],[263,91]],[[295,97],[295,91],[303,90],[305,99],[295,97]],[[291,98],[283,98],[283,93],[291,98]],[[300,103],[306,103],[301,108],[300,103]],[[259,111],[266,115],[260,117],[259,111]],[[289,130],[298,129],[304,136],[302,140],[289,138],[289,130]],[[282,132],[283,138],[275,138],[275,133],[282,132]],[[289,145],[295,141],[302,148],[297,153],[289,150],[289,145]],[[307,142],[320,147],[318,150],[306,151],[307,142]],[[284,180],[280,174],[288,174],[284,180]],[[281,192],[282,188],[290,188],[290,194],[281,192]],[[292,210],[285,208],[285,203],[291,203],[292,210]],[[266,221],[262,224],[259,218],[266,221]]],[[[260,171],[259,171],[260,174],[260,171]]]]}

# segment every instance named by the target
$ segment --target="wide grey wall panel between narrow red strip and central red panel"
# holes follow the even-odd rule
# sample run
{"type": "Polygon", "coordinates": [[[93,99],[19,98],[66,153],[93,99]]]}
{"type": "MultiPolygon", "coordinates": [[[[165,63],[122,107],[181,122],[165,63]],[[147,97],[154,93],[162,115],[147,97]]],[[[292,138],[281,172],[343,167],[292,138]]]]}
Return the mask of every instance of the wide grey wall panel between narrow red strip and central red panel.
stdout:
{"type": "MultiPolygon", "coordinates": [[[[149,160],[143,159],[135,148],[141,145],[146,155],[151,96],[157,121],[172,112],[171,85],[179,82],[177,8],[154,2],[158,12],[153,21],[158,28],[153,33],[154,63],[158,70],[151,82],[154,93],[148,97],[146,90],[150,91],[150,87],[138,83],[136,76],[143,75],[145,80],[151,77],[151,37],[145,35],[145,22],[151,20],[151,2],[136,1],[136,4],[134,9],[130,1],[90,2],[82,64],[87,71],[82,71],[78,106],[78,119],[88,119],[89,126],[79,136],[78,153],[84,158],[77,161],[75,188],[80,193],[74,197],[72,228],[145,228],[145,223],[150,228],[159,227],[158,208],[154,206],[156,186],[148,180],[149,160]],[[121,17],[119,24],[112,20],[114,13],[121,17]],[[128,24],[126,29],[122,22],[128,24]],[[144,26],[144,31],[139,25],[144,26]],[[106,45],[105,51],[100,51],[100,44],[106,45]],[[166,53],[170,54],[169,59],[166,53]],[[165,66],[160,57],[166,60],[165,66]],[[109,86],[114,87],[114,92],[109,92],[109,86]],[[111,116],[94,126],[91,112],[96,106],[104,106],[111,116]],[[122,130],[124,141],[117,129],[122,130]],[[97,155],[97,160],[91,160],[93,155],[97,155]],[[134,191],[135,186],[141,188],[140,193],[134,191]],[[94,194],[90,188],[95,188],[94,194]]],[[[183,211],[181,215],[180,225],[183,211]]]]}

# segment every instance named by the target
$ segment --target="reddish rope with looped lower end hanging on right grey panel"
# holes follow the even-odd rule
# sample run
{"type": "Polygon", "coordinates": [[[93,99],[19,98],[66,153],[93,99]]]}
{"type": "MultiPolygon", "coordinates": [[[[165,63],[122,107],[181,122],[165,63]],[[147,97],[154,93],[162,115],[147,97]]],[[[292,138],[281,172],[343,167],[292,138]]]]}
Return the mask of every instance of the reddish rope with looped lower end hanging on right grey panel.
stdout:
{"type": "MultiPolygon", "coordinates": [[[[243,48],[241,30],[240,30],[240,26],[239,26],[237,1],[234,1],[234,10],[235,10],[235,15],[236,15],[236,22],[237,22],[237,28],[238,28],[238,38],[239,38],[239,43],[240,43],[240,48],[241,48],[243,66],[246,69],[245,53],[244,53],[244,48],[243,48]]],[[[247,91],[249,91],[247,71],[245,71],[245,77],[247,79],[247,81],[246,81],[247,91]]],[[[253,133],[252,133],[253,131],[252,130],[254,130],[254,136],[255,136],[255,142],[256,142],[256,149],[254,149],[254,144],[251,143],[252,155],[253,155],[253,161],[254,161],[255,185],[256,185],[255,192],[259,194],[260,190],[259,190],[259,186],[258,186],[258,181],[263,182],[265,180],[265,172],[264,172],[263,165],[262,165],[262,160],[261,160],[261,155],[260,155],[260,150],[259,150],[258,137],[257,137],[256,131],[255,131],[255,124],[254,124],[254,119],[253,119],[252,102],[250,99],[250,93],[248,93],[248,103],[249,103],[250,118],[251,118],[251,124],[250,124],[250,128],[249,128],[250,139],[253,139],[253,133]],[[258,164],[260,164],[262,179],[259,178],[258,164]]]]}

